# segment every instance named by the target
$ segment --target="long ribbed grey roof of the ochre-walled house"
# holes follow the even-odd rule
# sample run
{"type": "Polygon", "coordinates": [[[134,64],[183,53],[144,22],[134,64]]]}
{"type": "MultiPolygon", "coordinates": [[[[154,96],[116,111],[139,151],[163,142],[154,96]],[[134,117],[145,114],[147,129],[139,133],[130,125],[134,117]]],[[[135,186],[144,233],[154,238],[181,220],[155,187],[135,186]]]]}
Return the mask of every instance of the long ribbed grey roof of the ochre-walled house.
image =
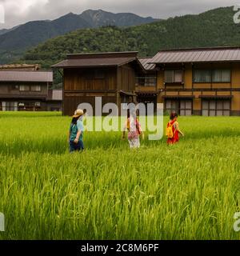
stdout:
{"type": "Polygon", "coordinates": [[[240,62],[240,47],[160,50],[150,63],[240,62]]]}

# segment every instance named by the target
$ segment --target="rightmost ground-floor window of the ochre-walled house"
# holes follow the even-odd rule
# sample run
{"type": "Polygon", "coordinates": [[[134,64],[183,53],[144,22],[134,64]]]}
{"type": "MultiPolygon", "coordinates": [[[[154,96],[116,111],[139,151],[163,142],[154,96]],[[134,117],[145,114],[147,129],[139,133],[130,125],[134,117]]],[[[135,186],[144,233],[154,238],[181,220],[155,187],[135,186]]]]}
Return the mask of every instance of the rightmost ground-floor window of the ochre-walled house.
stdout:
{"type": "Polygon", "coordinates": [[[203,116],[230,116],[230,100],[203,100],[203,116]]]}

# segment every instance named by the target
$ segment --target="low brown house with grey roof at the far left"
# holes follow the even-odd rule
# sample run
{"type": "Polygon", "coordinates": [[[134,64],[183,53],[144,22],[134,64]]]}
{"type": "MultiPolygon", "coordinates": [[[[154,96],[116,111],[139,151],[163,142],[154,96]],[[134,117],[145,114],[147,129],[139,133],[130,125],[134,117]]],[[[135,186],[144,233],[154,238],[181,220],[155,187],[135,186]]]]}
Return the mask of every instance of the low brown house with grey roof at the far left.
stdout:
{"type": "Polygon", "coordinates": [[[52,83],[52,71],[0,69],[0,110],[46,111],[48,102],[60,110],[62,100],[49,93],[52,83]]]}

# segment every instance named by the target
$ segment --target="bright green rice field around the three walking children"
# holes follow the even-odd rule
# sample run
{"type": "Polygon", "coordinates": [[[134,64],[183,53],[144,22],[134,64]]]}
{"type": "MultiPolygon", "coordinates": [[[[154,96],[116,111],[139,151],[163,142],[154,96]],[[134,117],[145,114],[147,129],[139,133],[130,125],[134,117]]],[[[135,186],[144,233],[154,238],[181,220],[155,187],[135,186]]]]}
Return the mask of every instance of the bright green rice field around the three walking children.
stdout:
{"type": "Polygon", "coordinates": [[[179,124],[178,145],[86,131],[70,155],[70,118],[1,113],[0,239],[239,239],[240,118],[179,124]]]}

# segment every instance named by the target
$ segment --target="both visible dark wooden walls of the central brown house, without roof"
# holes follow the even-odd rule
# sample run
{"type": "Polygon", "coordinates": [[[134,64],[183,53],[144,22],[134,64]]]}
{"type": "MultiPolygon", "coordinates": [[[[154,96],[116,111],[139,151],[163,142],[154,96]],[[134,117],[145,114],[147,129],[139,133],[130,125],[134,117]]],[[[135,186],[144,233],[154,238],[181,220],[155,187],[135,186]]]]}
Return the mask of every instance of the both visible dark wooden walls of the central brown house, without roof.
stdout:
{"type": "Polygon", "coordinates": [[[90,103],[94,108],[95,97],[102,97],[102,106],[106,103],[119,106],[119,90],[135,90],[133,66],[65,69],[63,114],[72,115],[81,103],[90,103]]]}

